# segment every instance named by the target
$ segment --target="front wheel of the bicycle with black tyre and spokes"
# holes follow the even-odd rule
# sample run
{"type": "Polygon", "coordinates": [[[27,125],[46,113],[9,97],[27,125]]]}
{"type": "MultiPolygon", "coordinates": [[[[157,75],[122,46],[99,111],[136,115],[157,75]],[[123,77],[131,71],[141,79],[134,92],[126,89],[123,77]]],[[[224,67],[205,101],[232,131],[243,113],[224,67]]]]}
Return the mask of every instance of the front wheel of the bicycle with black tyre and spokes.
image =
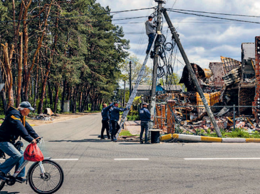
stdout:
{"type": "Polygon", "coordinates": [[[34,163],[28,172],[29,184],[36,193],[54,193],[61,188],[64,174],[61,166],[52,160],[43,160],[41,173],[40,163],[34,163]]]}

